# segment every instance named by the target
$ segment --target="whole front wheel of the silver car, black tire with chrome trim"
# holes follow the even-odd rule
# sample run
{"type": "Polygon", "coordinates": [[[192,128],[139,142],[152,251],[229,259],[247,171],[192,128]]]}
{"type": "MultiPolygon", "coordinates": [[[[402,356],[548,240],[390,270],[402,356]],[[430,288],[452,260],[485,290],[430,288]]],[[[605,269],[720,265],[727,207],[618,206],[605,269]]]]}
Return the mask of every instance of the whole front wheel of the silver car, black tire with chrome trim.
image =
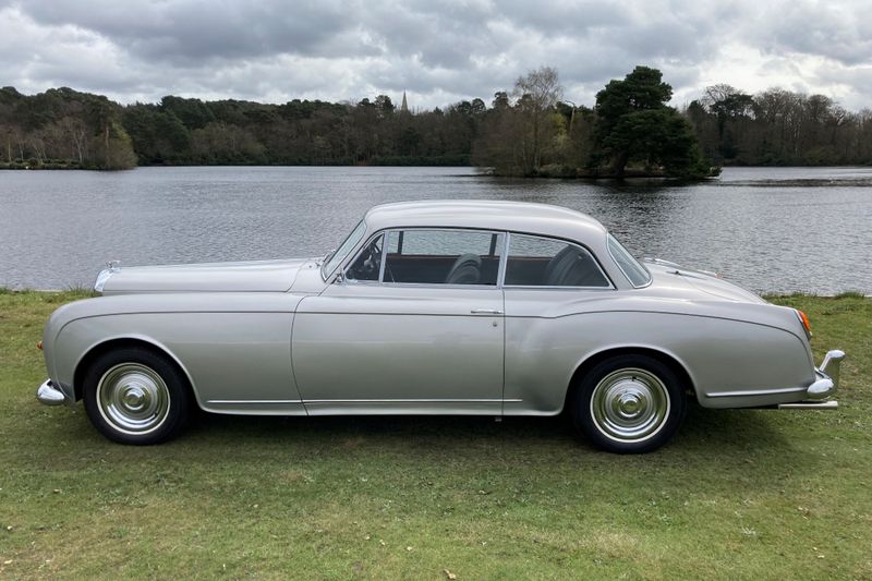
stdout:
{"type": "Polygon", "coordinates": [[[90,422],[120,444],[167,441],[187,424],[187,378],[169,359],[147,349],[100,355],[85,373],[83,391],[90,422]]]}

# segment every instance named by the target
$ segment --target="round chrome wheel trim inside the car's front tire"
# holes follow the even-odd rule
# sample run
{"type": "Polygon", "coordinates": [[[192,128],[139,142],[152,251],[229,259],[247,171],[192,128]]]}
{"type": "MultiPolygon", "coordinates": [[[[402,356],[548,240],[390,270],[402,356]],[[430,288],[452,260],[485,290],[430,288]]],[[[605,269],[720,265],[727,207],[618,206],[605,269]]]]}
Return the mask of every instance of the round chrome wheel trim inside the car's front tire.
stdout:
{"type": "Polygon", "coordinates": [[[113,429],[150,434],[167,420],[170,391],[164,378],[142,363],[120,363],[97,383],[97,409],[113,429]]]}

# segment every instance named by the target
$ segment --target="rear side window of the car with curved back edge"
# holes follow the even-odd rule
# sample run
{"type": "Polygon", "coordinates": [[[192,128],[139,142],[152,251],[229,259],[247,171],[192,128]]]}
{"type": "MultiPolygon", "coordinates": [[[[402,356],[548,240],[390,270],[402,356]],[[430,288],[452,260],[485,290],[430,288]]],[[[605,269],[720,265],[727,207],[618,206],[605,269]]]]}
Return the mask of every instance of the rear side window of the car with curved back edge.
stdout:
{"type": "Polygon", "coordinates": [[[509,235],[506,286],[610,287],[591,253],[549,238],[509,235]]]}

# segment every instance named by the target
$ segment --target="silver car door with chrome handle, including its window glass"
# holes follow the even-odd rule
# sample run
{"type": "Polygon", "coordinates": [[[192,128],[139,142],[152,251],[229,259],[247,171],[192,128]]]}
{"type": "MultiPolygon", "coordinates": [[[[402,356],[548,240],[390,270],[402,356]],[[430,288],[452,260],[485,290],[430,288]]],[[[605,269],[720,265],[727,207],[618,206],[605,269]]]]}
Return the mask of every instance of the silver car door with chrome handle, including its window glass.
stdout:
{"type": "Polygon", "coordinates": [[[341,280],[298,307],[291,351],[306,410],[500,413],[504,240],[405,229],[364,244],[341,280]]]}

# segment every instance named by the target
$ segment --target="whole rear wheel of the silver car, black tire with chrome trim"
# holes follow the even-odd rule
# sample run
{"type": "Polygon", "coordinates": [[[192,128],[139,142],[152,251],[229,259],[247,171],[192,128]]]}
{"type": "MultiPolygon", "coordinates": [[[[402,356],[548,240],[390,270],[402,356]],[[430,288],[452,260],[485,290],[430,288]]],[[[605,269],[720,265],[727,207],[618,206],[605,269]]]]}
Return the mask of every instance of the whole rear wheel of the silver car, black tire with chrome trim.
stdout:
{"type": "Polygon", "coordinates": [[[685,419],[687,398],[678,375],[647,355],[616,355],[596,364],[573,391],[576,429],[614,453],[656,450],[685,419]]]}

